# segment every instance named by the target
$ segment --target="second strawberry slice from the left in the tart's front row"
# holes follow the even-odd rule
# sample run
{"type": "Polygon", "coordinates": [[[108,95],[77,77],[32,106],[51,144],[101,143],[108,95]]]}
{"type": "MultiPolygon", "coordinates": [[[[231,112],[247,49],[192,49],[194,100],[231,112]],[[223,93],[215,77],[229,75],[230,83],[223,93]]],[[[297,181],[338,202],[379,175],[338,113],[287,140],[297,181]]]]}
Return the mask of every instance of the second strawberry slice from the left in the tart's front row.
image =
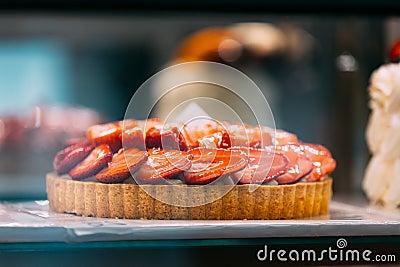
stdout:
{"type": "Polygon", "coordinates": [[[93,176],[106,167],[112,160],[112,157],[113,155],[108,145],[99,145],[90,152],[89,156],[69,172],[69,176],[73,180],[82,180],[93,176]]]}

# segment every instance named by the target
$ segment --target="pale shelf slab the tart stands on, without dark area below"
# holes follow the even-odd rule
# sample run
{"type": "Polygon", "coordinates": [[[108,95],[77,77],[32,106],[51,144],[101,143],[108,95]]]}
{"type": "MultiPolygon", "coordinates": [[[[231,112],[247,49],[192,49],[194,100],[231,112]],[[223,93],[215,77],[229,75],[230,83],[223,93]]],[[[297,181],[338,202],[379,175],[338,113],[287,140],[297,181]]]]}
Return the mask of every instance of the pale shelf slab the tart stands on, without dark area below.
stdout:
{"type": "Polygon", "coordinates": [[[392,235],[400,213],[336,201],[329,215],[301,220],[124,220],[54,213],[47,200],[0,206],[0,243],[392,235]]]}

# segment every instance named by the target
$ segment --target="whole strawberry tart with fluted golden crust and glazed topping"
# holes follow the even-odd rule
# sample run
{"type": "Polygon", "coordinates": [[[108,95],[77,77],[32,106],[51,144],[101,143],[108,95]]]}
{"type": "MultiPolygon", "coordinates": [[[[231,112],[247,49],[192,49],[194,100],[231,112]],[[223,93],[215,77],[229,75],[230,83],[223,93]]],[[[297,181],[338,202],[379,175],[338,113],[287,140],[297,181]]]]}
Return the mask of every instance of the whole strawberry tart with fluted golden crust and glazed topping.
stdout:
{"type": "Polygon", "coordinates": [[[328,212],[335,160],[285,131],[158,119],[95,125],[60,151],[50,208],[129,219],[290,219],[328,212]]]}

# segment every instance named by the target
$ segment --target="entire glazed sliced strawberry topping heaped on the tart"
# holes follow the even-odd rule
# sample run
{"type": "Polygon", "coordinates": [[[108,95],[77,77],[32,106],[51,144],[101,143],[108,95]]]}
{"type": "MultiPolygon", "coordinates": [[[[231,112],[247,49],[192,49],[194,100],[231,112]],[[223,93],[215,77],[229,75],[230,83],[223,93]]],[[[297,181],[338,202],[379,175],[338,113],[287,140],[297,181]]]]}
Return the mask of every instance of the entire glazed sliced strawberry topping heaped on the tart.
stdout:
{"type": "Polygon", "coordinates": [[[75,180],[95,175],[103,183],[133,173],[138,183],[181,178],[201,185],[229,175],[239,184],[291,184],[318,181],[336,167],[328,149],[298,143],[292,133],[210,118],[184,124],[127,119],[94,125],[87,138],[67,144],[54,158],[55,171],[75,180]]]}

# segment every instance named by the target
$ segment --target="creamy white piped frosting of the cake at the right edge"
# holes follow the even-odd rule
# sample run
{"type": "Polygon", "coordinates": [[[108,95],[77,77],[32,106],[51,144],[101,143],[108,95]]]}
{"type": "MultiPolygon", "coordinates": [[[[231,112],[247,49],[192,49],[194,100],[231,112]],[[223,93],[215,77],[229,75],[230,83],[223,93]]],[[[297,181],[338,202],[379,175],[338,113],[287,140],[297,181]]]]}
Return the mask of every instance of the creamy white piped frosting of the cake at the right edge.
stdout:
{"type": "Polygon", "coordinates": [[[371,116],[366,139],[372,153],[363,189],[386,206],[400,205],[400,64],[387,64],[370,79],[371,116]]]}

